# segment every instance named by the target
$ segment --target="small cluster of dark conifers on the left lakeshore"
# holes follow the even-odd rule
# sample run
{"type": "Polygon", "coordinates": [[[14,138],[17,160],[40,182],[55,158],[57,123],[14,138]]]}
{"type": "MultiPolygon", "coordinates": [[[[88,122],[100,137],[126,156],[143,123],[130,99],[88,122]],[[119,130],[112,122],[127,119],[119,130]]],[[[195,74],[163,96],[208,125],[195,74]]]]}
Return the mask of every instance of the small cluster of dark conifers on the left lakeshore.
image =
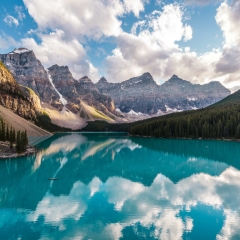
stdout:
{"type": "Polygon", "coordinates": [[[0,141],[9,142],[11,149],[15,147],[17,153],[22,153],[28,146],[27,131],[16,131],[0,118],[0,141]]]}

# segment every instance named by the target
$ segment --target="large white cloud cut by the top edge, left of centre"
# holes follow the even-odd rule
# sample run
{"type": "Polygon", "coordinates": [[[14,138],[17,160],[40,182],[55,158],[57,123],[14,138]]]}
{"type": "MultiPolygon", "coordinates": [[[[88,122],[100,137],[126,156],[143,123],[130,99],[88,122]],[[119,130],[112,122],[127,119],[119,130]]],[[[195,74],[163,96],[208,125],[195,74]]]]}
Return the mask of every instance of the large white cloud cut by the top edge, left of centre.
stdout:
{"type": "Polygon", "coordinates": [[[61,29],[66,36],[95,40],[119,35],[122,22],[118,17],[128,12],[138,16],[144,9],[143,0],[24,0],[24,3],[39,29],[61,29]]]}

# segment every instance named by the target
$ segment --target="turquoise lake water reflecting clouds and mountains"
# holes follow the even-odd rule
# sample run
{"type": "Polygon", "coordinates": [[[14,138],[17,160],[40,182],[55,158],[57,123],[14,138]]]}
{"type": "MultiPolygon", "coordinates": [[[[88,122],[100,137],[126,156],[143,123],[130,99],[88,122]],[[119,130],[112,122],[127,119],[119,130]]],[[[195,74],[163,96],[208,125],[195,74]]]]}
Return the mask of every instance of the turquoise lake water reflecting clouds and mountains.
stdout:
{"type": "Polygon", "coordinates": [[[240,143],[66,133],[37,147],[0,161],[0,239],[240,239],[240,143]]]}

